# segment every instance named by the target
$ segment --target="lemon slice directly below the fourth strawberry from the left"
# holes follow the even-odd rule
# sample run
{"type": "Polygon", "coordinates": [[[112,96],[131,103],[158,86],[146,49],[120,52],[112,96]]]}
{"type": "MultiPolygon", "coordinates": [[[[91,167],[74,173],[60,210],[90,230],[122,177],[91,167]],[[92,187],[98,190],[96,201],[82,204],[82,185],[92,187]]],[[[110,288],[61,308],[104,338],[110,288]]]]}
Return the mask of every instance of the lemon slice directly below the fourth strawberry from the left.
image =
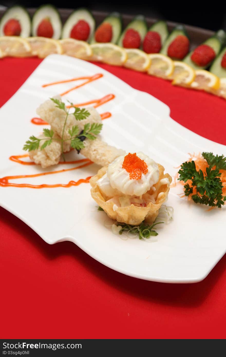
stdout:
{"type": "Polygon", "coordinates": [[[92,61],[100,61],[113,66],[122,66],[127,60],[127,53],[124,48],[109,43],[96,43],[91,46],[93,55],[92,61]]]}

